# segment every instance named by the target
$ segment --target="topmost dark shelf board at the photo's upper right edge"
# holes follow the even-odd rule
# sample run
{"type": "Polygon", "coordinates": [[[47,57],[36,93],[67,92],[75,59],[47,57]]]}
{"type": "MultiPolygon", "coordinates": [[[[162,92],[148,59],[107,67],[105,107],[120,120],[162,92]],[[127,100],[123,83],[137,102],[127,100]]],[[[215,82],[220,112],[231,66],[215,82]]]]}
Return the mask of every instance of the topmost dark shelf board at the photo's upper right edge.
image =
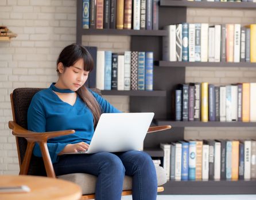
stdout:
{"type": "Polygon", "coordinates": [[[256,3],[160,0],[160,6],[210,8],[210,9],[255,9],[256,3]]]}

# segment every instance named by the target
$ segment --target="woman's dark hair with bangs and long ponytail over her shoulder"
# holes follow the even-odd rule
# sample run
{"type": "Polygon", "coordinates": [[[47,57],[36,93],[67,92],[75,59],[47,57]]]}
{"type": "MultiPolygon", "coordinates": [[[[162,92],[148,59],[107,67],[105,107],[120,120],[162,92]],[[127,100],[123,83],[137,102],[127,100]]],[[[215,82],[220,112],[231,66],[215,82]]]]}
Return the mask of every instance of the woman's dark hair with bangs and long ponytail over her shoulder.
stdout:
{"type": "MultiPolygon", "coordinates": [[[[84,70],[92,71],[92,69],[94,68],[94,60],[92,59],[91,54],[86,50],[86,48],[75,43],[65,47],[61,51],[59,58],[57,59],[57,66],[61,62],[63,63],[65,70],[65,67],[70,67],[74,65],[76,61],[81,58],[84,61],[84,70]]],[[[57,72],[59,73],[58,68],[57,72]]],[[[88,108],[91,110],[94,117],[94,127],[96,127],[101,114],[99,103],[94,98],[94,95],[92,95],[90,91],[88,91],[87,87],[84,85],[76,91],[76,94],[79,95],[79,97],[83,100],[84,103],[86,103],[88,108]]]]}

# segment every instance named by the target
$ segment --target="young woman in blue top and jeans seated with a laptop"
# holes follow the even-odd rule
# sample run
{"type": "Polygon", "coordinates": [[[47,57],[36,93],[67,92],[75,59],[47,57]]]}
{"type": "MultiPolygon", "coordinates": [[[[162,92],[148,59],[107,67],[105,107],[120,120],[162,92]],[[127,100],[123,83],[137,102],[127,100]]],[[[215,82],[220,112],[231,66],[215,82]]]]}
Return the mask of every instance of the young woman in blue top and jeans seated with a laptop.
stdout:
{"type": "MultiPolygon", "coordinates": [[[[96,199],[120,200],[123,179],[133,177],[133,199],[156,199],[156,169],[143,151],[69,154],[88,149],[101,113],[120,113],[104,98],[84,86],[94,63],[88,51],[72,44],[57,59],[59,79],[36,93],[28,110],[28,129],[36,132],[74,129],[71,135],[48,140],[56,175],[88,173],[98,177],[96,199]]],[[[36,144],[33,154],[41,157],[36,144]]]]}

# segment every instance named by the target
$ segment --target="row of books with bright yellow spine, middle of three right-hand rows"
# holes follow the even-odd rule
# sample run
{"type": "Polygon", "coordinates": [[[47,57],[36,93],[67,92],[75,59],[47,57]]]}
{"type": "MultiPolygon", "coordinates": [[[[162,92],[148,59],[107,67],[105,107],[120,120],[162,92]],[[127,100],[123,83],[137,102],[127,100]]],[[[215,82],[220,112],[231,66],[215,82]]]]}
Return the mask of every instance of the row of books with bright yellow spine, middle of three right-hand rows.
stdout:
{"type": "Polygon", "coordinates": [[[189,83],[175,90],[176,121],[256,122],[256,83],[189,83]]]}

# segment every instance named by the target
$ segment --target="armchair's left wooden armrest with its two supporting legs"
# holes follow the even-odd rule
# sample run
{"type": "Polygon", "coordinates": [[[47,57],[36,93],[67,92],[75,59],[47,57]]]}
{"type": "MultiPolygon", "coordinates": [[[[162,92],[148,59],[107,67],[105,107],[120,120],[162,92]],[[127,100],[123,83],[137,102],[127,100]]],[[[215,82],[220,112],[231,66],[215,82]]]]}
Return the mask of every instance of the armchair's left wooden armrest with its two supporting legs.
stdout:
{"type": "Polygon", "coordinates": [[[9,122],[9,128],[13,130],[13,135],[15,135],[16,137],[24,137],[28,141],[28,145],[26,147],[26,153],[20,169],[20,175],[28,174],[33,147],[35,145],[35,142],[38,142],[41,149],[41,153],[42,153],[42,159],[44,160],[46,174],[48,177],[56,178],[55,172],[53,170],[53,165],[52,165],[51,157],[49,154],[49,150],[47,147],[47,139],[59,137],[62,135],[73,134],[75,133],[75,130],[36,133],[36,132],[24,129],[23,127],[21,127],[20,125],[18,125],[13,121],[9,122]]]}

